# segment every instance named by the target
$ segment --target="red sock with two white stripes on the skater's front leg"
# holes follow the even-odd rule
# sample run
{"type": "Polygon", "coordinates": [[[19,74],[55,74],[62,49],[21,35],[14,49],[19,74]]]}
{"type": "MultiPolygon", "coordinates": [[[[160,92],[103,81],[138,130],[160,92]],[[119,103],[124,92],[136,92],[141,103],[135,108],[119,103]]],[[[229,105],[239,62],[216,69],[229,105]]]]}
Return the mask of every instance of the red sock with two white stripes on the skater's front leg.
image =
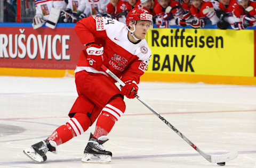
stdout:
{"type": "Polygon", "coordinates": [[[125,111],[125,103],[121,97],[115,97],[102,109],[97,123],[94,138],[106,136],[114,127],[115,122],[123,115],[125,111]]]}

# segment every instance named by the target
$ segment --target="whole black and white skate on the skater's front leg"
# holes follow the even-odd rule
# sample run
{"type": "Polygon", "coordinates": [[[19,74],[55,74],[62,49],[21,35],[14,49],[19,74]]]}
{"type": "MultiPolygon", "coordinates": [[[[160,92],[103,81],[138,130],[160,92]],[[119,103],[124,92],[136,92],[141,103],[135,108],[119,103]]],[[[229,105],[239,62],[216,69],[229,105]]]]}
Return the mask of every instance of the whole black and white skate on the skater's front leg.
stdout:
{"type": "Polygon", "coordinates": [[[88,144],[84,149],[82,162],[106,163],[111,162],[112,153],[105,150],[102,146],[108,140],[107,136],[101,136],[98,139],[92,138],[92,133],[88,144]]]}

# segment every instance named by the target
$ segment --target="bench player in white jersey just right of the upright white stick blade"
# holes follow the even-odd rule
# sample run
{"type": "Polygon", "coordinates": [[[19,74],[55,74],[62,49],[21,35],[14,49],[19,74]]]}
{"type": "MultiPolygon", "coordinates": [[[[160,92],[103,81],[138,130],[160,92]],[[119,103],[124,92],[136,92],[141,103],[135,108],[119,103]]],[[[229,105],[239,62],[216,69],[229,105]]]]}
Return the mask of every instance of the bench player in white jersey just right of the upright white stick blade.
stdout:
{"type": "MultiPolygon", "coordinates": [[[[72,14],[76,17],[76,20],[80,20],[86,17],[84,11],[86,7],[86,0],[68,0],[68,5],[66,7],[66,12],[72,14]]],[[[66,19],[66,22],[74,22],[68,21],[66,15],[62,15],[63,20],[66,19]]]]}

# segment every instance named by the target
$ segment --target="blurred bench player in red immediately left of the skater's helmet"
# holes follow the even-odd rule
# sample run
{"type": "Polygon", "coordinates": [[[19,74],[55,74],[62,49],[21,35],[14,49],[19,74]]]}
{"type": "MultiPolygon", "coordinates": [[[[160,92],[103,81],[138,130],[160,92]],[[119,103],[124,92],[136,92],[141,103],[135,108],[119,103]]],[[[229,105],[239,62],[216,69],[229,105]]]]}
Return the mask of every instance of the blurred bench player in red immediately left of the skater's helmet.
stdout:
{"type": "Polygon", "coordinates": [[[126,15],[132,10],[132,6],[128,2],[123,0],[110,0],[107,5],[107,13],[111,15],[112,18],[125,23],[126,15]]]}

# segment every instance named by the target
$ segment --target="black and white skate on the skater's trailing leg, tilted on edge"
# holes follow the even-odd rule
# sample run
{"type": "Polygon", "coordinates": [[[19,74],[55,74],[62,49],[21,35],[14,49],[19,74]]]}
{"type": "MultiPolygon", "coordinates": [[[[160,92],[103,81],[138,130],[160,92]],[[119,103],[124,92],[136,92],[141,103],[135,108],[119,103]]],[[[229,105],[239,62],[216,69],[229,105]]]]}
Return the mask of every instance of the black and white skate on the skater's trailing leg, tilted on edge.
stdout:
{"type": "Polygon", "coordinates": [[[25,153],[25,155],[27,155],[34,162],[42,163],[46,161],[47,157],[45,154],[48,151],[56,154],[57,144],[54,141],[45,139],[32,145],[30,148],[24,149],[23,153],[25,153]]]}

